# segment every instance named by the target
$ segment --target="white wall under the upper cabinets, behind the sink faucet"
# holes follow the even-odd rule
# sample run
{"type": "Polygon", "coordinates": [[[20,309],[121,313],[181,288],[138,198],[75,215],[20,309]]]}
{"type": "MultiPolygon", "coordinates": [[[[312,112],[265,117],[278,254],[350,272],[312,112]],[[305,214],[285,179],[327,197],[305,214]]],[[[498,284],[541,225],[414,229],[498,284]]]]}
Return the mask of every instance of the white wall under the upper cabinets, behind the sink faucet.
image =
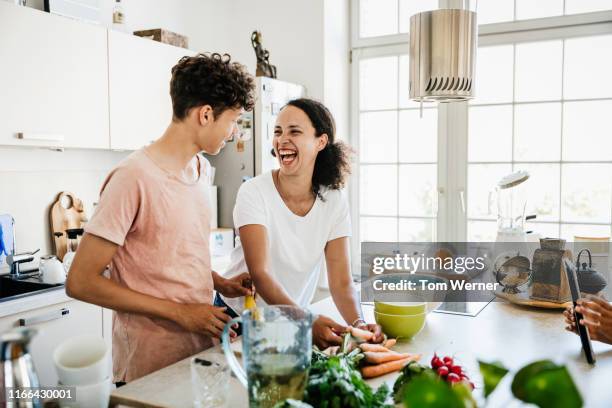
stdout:
{"type": "Polygon", "coordinates": [[[15,218],[16,250],[53,253],[49,210],[57,195],[70,191],[92,215],[102,181],[127,153],[0,147],[0,214],[15,218]]]}

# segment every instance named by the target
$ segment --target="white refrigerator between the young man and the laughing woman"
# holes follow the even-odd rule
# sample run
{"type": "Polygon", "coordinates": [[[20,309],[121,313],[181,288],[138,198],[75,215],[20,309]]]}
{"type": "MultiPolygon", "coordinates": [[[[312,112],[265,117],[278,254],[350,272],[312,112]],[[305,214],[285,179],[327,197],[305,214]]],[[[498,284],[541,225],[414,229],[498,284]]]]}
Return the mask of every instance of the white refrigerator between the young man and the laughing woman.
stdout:
{"type": "Polygon", "coordinates": [[[241,135],[228,141],[218,155],[206,155],[215,167],[219,227],[234,227],[232,212],[240,185],[278,168],[271,153],[276,117],[287,102],[305,92],[302,85],[257,77],[255,107],[240,118],[241,135]]]}

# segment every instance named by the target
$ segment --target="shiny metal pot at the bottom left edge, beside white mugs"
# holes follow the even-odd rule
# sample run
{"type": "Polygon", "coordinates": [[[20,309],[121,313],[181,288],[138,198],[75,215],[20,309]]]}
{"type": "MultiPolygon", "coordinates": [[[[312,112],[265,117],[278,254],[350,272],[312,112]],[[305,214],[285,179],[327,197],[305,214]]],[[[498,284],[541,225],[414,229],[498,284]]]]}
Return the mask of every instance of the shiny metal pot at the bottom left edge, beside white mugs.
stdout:
{"type": "MultiPolygon", "coordinates": [[[[0,361],[4,374],[3,390],[40,386],[32,356],[28,350],[30,341],[36,333],[36,329],[23,327],[0,336],[0,361]]],[[[31,401],[16,400],[9,403],[8,406],[36,408],[42,407],[42,401],[35,397],[31,401]]]]}

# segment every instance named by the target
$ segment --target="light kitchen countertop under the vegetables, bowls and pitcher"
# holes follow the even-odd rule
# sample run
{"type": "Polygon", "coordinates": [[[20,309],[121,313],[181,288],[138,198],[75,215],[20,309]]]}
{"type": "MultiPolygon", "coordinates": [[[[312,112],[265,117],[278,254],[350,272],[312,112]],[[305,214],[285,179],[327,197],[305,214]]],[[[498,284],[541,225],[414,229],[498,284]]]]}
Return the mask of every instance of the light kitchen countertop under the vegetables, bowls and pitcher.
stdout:
{"type": "MultiPolygon", "coordinates": [[[[373,321],[372,306],[364,305],[366,320],[373,321]]],[[[325,314],[338,321],[340,316],[331,298],[311,306],[314,313],[325,314]]],[[[482,388],[477,358],[499,360],[516,370],[523,365],[549,358],[567,364],[587,407],[612,404],[612,346],[593,343],[597,365],[590,367],[581,354],[578,336],[564,330],[562,313],[527,309],[503,302],[489,304],[476,317],[431,313],[427,325],[410,342],[398,343],[398,351],[422,353],[428,362],[434,352],[452,355],[482,388]]],[[[219,353],[216,346],[199,355],[206,358],[219,353]]],[[[383,382],[393,384],[396,373],[370,380],[373,387],[383,382]]],[[[508,378],[500,384],[487,405],[509,406],[511,399],[508,378]]],[[[480,392],[477,389],[477,393],[480,392]]],[[[191,407],[192,393],[189,359],[161,369],[113,392],[111,404],[135,407],[191,407]]],[[[247,393],[237,379],[230,379],[228,407],[247,407],[247,393]]],[[[515,406],[520,406],[516,404],[515,406]]]]}

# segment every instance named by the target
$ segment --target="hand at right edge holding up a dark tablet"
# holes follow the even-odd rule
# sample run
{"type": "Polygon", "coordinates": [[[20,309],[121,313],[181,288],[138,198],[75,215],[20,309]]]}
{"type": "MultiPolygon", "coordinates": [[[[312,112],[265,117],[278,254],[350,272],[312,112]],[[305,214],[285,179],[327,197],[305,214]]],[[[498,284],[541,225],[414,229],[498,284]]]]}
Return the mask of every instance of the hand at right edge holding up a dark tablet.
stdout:
{"type": "MultiPolygon", "coordinates": [[[[612,305],[592,295],[578,300],[577,303],[576,312],[582,314],[582,320],[579,323],[588,329],[591,339],[612,344],[612,305]]],[[[565,329],[577,334],[573,308],[567,308],[563,315],[567,325],[565,329]]]]}

